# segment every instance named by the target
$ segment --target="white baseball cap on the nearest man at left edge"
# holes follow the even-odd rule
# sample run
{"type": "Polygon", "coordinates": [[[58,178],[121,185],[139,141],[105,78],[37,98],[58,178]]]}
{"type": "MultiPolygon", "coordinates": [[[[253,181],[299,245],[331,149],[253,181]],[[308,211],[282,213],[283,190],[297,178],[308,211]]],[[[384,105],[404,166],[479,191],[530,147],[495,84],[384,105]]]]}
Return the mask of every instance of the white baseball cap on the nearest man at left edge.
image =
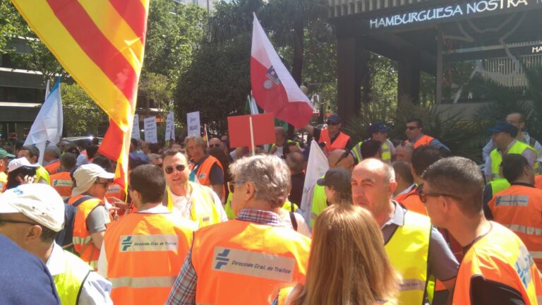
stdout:
{"type": "Polygon", "coordinates": [[[48,184],[21,184],[0,194],[0,214],[23,213],[59,232],[64,227],[64,201],[48,184]]]}

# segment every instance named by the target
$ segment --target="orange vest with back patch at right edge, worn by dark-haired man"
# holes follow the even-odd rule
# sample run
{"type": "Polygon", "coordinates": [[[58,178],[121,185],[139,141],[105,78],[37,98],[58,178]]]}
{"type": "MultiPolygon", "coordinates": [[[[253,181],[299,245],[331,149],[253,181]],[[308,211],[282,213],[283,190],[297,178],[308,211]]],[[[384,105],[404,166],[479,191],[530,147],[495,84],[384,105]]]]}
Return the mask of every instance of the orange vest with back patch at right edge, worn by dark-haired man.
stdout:
{"type": "Polygon", "coordinates": [[[542,190],[512,185],[491,198],[488,207],[493,220],[511,229],[542,268],[542,190]]]}

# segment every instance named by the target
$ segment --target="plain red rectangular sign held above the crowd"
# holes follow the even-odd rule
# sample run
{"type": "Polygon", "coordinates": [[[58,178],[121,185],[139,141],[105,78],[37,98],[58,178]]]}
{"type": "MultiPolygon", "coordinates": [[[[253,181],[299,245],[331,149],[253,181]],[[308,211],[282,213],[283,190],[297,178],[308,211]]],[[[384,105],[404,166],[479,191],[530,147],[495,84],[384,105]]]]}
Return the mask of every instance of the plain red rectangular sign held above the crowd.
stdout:
{"type": "Polygon", "coordinates": [[[275,143],[275,116],[272,113],[228,116],[229,146],[248,147],[251,144],[251,123],[254,145],[275,143]]]}

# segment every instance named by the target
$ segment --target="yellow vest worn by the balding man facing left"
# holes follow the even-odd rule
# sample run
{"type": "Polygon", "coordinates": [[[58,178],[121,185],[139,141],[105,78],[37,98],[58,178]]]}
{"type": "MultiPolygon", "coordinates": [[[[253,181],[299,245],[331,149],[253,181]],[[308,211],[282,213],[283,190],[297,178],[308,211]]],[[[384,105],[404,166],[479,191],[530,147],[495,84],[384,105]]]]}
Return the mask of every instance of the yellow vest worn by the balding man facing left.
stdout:
{"type": "Polygon", "coordinates": [[[387,257],[403,278],[398,304],[423,304],[428,277],[430,234],[429,217],[407,210],[404,213],[404,225],[397,227],[385,244],[387,257]]]}

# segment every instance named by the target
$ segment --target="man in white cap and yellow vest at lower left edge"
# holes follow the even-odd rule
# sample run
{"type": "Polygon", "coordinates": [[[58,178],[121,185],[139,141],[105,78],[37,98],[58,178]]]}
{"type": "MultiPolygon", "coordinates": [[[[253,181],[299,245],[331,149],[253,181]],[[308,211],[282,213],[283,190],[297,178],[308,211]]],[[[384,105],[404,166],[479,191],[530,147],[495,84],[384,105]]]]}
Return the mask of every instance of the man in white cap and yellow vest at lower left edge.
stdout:
{"type": "MultiPolygon", "coordinates": [[[[47,265],[61,304],[113,304],[109,297],[111,283],[54,241],[64,227],[64,203],[51,186],[20,185],[2,194],[0,203],[0,234],[47,265]]],[[[18,273],[19,266],[11,268],[13,275],[18,273]]],[[[42,300],[19,304],[42,304],[42,300]]]]}

